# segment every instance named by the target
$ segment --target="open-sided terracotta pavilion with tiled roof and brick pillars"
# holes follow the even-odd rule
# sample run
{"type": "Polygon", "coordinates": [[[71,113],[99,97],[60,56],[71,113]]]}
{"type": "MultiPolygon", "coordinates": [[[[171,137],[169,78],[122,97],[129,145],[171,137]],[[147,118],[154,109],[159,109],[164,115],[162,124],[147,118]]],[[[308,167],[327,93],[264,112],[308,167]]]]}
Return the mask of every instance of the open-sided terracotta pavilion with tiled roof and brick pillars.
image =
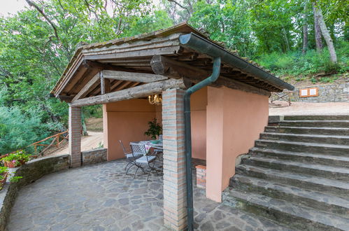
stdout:
{"type": "Polygon", "coordinates": [[[124,158],[119,140],[144,140],[148,121],[157,118],[162,123],[164,225],[185,230],[192,221],[187,219],[192,214],[190,203],[187,206],[191,181],[186,181],[191,158],[206,160],[206,197],[222,202],[238,155],[247,153],[267,124],[270,92],[284,88],[293,87],[182,23],[81,46],[52,96],[69,103],[71,167],[80,167],[82,160],[83,106],[103,104],[109,161],[124,158]],[[184,119],[185,94],[213,72],[218,79],[192,94],[190,129],[184,119]],[[149,104],[148,97],[155,94],[162,97],[161,105],[149,104]],[[191,132],[190,137],[185,132],[191,132]],[[185,144],[189,138],[192,146],[185,144]]]}

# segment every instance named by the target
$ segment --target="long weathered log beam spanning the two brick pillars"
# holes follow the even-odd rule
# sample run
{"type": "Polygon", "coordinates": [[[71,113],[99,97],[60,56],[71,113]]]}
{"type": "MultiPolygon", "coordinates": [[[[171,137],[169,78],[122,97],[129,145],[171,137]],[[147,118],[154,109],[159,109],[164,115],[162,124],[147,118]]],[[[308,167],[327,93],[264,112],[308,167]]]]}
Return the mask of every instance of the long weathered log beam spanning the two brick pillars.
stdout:
{"type": "Polygon", "coordinates": [[[161,93],[162,91],[180,87],[186,89],[190,87],[191,82],[185,78],[157,81],[153,83],[145,83],[136,87],[127,88],[124,90],[119,90],[116,92],[106,93],[97,95],[94,97],[89,97],[85,99],[77,99],[76,101],[71,102],[70,106],[88,106],[95,104],[107,104],[110,102],[122,101],[125,99],[136,99],[141,97],[147,97],[150,94],[161,93]]]}

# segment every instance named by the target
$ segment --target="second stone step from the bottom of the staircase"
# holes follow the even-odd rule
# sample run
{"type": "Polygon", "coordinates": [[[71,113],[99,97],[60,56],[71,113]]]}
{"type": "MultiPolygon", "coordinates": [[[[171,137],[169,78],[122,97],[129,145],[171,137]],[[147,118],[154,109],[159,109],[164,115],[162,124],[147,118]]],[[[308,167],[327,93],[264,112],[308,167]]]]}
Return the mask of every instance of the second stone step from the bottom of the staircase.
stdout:
{"type": "Polygon", "coordinates": [[[231,187],[349,218],[349,199],[346,198],[242,175],[233,177],[231,187]]]}

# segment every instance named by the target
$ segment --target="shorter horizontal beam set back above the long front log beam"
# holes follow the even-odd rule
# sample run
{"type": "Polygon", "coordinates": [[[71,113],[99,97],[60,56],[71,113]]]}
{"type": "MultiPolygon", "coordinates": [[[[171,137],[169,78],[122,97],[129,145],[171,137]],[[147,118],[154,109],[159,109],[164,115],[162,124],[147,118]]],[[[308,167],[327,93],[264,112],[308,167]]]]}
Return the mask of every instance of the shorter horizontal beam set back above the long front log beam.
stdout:
{"type": "Polygon", "coordinates": [[[126,80],[131,82],[140,82],[140,83],[152,83],[159,80],[168,79],[166,76],[155,75],[152,73],[134,73],[127,71],[103,71],[104,78],[111,78],[116,80],[126,80]]]}

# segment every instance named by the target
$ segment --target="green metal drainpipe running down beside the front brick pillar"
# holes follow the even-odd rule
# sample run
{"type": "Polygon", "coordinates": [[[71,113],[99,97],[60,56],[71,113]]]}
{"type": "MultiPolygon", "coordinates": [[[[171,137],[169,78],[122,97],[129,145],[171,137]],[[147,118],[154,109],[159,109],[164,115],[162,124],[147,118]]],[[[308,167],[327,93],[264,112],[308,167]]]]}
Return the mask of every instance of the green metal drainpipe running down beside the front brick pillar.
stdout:
{"type": "Polygon", "coordinates": [[[190,87],[184,94],[184,123],[185,123],[185,169],[187,181],[187,228],[194,230],[194,209],[192,197],[192,126],[190,123],[190,96],[192,93],[200,90],[215,82],[220,76],[220,57],[213,59],[212,75],[205,78],[200,83],[190,87]]]}

